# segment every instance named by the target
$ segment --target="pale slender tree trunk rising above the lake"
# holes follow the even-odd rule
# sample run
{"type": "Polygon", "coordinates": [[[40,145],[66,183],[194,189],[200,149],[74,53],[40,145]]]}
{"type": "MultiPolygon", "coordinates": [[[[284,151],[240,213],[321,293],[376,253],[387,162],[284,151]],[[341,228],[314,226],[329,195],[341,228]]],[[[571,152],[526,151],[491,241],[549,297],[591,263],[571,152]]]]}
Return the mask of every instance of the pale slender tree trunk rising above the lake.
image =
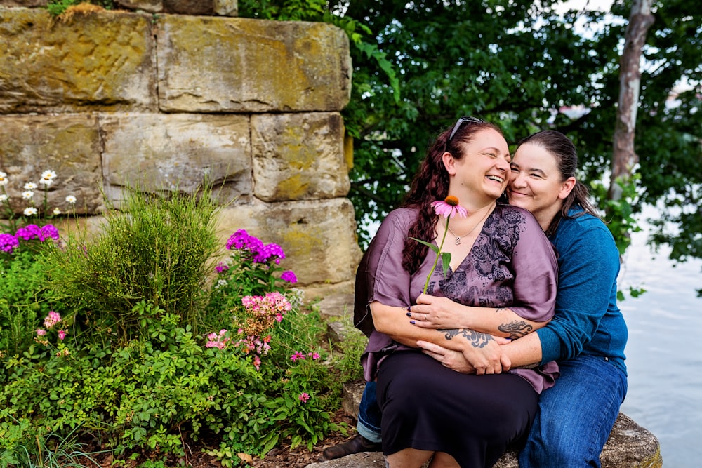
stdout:
{"type": "Polygon", "coordinates": [[[654,23],[654,17],[651,15],[652,3],[653,0],[634,1],[626,28],[624,51],[619,62],[619,106],[614,127],[612,173],[607,194],[607,198],[614,201],[621,199],[622,187],[619,181],[626,182],[639,162],[639,156],[634,152],[636,111],[641,87],[639,65],[646,34],[654,23]]]}

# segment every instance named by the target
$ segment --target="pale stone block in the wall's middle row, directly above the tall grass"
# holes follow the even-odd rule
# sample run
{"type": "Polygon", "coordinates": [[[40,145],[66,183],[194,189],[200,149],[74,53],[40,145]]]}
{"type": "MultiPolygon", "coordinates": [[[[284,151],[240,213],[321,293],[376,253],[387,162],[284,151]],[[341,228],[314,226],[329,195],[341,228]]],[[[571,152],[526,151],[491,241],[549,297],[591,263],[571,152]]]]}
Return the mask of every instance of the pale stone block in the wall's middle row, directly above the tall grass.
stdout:
{"type": "Polygon", "coordinates": [[[100,114],[107,196],[121,187],[197,192],[213,184],[221,203],[253,192],[249,117],[204,114],[100,114]]]}

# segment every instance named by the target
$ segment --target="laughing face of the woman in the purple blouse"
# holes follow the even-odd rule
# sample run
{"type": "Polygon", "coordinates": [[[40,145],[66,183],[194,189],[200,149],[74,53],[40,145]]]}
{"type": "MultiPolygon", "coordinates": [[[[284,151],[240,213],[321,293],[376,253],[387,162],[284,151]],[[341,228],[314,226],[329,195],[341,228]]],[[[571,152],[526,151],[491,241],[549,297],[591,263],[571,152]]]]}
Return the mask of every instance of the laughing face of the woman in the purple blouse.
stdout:
{"type": "Polygon", "coordinates": [[[469,198],[479,203],[498,199],[509,180],[510,149],[505,138],[485,128],[470,142],[462,143],[462,150],[461,159],[444,153],[444,165],[451,175],[449,194],[455,193],[461,201],[469,198]]]}

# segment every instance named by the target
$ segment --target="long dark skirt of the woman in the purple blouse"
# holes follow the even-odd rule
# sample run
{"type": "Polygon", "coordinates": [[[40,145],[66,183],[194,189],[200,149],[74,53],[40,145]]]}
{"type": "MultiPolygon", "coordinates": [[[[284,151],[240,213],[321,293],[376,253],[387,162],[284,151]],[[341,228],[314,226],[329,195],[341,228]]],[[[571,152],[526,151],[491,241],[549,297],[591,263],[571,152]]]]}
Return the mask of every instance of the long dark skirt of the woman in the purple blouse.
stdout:
{"type": "Polygon", "coordinates": [[[462,468],[493,466],[524,443],[538,394],[518,375],[467,375],[420,352],[391,354],[378,372],[383,453],[446,452],[462,468]]]}

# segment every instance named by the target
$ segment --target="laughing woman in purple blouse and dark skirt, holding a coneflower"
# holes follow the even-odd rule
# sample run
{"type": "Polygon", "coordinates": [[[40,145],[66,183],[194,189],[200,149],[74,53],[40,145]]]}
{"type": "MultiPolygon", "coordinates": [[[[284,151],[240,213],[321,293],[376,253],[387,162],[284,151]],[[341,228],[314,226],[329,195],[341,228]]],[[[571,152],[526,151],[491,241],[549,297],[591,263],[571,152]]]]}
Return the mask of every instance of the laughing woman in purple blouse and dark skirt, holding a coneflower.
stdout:
{"type": "Polygon", "coordinates": [[[355,323],[369,335],[362,363],[366,380],[377,380],[392,468],[430,458],[433,468],[491,467],[524,440],[538,394],[557,376],[555,363],[501,373],[478,352],[545,326],[555,305],[557,263],[543,230],[527,210],[497,202],[509,171],[501,131],[462,117],[430,146],[405,205],[383,220],[359,265],[355,323]],[[431,203],[446,196],[468,216],[439,222],[431,203]],[[422,294],[436,254],[411,238],[438,246],[444,234],[449,271],[435,269],[422,294]],[[413,326],[422,319],[411,312],[416,304],[465,314],[490,333],[413,326]],[[489,375],[456,373],[420,352],[418,340],[482,356],[477,373],[489,375]]]}

